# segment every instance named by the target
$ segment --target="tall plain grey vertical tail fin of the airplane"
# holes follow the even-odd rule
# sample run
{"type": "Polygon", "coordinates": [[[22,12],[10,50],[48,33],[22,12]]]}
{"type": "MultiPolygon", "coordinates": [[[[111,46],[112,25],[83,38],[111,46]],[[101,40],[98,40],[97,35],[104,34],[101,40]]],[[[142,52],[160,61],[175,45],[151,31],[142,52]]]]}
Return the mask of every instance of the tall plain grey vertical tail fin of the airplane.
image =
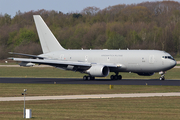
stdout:
{"type": "Polygon", "coordinates": [[[65,50],[40,15],[33,15],[43,53],[65,50]]]}

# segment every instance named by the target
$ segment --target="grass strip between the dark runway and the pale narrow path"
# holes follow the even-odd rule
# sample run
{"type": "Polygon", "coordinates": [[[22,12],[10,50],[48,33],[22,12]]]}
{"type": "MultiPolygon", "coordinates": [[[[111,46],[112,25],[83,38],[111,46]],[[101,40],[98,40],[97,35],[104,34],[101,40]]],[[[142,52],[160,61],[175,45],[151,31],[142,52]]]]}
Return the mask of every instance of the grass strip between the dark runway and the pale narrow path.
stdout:
{"type": "Polygon", "coordinates": [[[179,86],[114,85],[109,89],[109,85],[0,83],[0,97],[20,97],[23,89],[27,96],[180,92],[179,86]]]}

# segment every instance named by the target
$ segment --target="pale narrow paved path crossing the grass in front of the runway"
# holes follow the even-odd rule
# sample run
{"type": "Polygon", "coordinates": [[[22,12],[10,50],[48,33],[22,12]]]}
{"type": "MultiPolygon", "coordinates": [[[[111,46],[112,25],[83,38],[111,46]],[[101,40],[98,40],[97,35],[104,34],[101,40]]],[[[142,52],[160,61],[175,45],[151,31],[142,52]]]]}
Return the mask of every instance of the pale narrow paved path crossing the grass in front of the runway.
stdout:
{"type": "MultiPolygon", "coordinates": [[[[132,98],[180,96],[180,93],[132,93],[132,94],[94,94],[94,95],[63,95],[63,96],[31,96],[27,100],[67,100],[67,99],[100,99],[100,98],[132,98]]],[[[24,97],[0,97],[0,101],[23,101],[24,97]]]]}

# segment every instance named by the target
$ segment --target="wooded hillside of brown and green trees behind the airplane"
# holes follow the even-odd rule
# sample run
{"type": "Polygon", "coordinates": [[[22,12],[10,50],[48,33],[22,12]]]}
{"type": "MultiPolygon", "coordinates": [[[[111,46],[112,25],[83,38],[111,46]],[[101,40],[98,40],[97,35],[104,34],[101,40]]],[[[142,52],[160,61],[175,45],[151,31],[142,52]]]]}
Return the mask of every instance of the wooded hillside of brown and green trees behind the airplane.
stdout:
{"type": "Polygon", "coordinates": [[[80,13],[18,11],[0,14],[0,59],[8,51],[41,54],[33,15],[41,15],[66,49],[157,49],[180,54],[180,3],[176,1],[87,7],[80,13]]]}

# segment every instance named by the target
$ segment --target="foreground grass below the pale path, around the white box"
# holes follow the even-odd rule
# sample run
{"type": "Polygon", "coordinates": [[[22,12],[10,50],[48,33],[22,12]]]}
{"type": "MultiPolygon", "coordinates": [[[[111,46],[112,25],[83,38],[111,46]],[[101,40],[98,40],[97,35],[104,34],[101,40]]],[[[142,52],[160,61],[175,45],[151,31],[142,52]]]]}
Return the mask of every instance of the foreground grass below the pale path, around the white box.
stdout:
{"type": "MultiPolygon", "coordinates": [[[[35,120],[179,120],[180,97],[26,101],[35,120]]],[[[0,102],[0,119],[23,119],[23,101],[0,102]]]]}

